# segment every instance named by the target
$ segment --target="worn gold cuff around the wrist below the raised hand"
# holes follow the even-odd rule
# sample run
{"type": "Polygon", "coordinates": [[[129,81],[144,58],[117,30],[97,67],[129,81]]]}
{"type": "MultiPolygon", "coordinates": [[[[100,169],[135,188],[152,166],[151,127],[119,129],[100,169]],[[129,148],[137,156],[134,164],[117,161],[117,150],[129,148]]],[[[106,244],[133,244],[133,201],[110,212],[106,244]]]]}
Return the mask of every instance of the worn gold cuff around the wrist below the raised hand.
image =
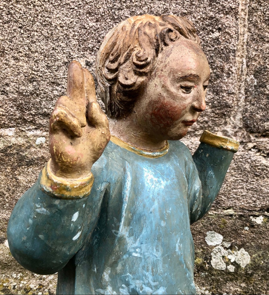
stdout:
{"type": "Polygon", "coordinates": [[[52,173],[50,161],[51,159],[41,171],[39,181],[41,191],[60,199],[81,199],[90,194],[94,182],[92,173],[85,178],[66,180],[52,173]]]}

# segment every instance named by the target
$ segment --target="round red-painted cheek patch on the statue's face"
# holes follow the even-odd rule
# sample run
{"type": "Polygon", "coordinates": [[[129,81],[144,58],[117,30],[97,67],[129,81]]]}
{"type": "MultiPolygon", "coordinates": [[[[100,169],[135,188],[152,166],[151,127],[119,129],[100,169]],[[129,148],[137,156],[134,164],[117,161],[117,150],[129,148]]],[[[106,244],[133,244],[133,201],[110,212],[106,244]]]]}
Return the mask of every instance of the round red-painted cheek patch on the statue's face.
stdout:
{"type": "Polygon", "coordinates": [[[154,101],[150,104],[148,106],[149,110],[152,109],[150,121],[162,127],[169,127],[180,119],[182,110],[184,109],[184,106],[165,101],[163,98],[160,98],[157,103],[154,101]]]}

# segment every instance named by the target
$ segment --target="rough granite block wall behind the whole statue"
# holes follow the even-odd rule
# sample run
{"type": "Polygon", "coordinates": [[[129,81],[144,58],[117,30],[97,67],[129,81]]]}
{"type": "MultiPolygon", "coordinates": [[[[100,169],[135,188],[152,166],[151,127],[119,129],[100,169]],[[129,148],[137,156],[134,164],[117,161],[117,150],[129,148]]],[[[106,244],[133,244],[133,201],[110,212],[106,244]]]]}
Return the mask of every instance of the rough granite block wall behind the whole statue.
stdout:
{"type": "Polygon", "coordinates": [[[144,13],[192,20],[209,60],[207,109],[183,141],[193,152],[208,129],[241,143],[210,214],[192,226],[198,293],[269,293],[268,5],[261,0],[0,3],[0,294],[55,293],[56,275],[35,276],[12,258],[4,244],[6,225],[16,201],[49,159],[49,114],[65,92],[69,62],[79,60],[94,73],[106,32],[144,13]],[[261,224],[255,222],[259,216],[261,224]],[[242,268],[222,257],[225,270],[213,268],[215,246],[205,242],[208,231],[223,236],[221,247],[244,248],[250,263],[242,268]]]}

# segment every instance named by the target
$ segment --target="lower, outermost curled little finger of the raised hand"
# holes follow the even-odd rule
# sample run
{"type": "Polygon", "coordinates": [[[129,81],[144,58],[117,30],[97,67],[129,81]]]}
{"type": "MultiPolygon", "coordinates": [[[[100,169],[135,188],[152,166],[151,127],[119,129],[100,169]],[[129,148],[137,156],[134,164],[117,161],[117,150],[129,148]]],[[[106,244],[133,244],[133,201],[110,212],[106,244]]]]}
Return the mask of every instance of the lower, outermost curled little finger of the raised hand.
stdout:
{"type": "Polygon", "coordinates": [[[75,118],[68,109],[58,106],[52,112],[50,118],[50,127],[52,132],[66,130],[72,137],[81,137],[82,128],[77,118],[75,118]]]}

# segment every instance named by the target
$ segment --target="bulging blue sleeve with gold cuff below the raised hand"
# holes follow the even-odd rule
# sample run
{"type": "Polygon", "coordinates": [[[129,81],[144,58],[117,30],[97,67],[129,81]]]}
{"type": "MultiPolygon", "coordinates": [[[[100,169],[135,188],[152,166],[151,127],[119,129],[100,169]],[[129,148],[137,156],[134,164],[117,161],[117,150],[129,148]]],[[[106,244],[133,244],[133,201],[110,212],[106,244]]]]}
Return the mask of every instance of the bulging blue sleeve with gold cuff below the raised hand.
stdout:
{"type": "Polygon", "coordinates": [[[97,222],[104,192],[99,175],[95,181],[92,173],[67,181],[53,175],[47,163],[8,223],[11,254],[24,268],[55,273],[77,253],[97,222]]]}

